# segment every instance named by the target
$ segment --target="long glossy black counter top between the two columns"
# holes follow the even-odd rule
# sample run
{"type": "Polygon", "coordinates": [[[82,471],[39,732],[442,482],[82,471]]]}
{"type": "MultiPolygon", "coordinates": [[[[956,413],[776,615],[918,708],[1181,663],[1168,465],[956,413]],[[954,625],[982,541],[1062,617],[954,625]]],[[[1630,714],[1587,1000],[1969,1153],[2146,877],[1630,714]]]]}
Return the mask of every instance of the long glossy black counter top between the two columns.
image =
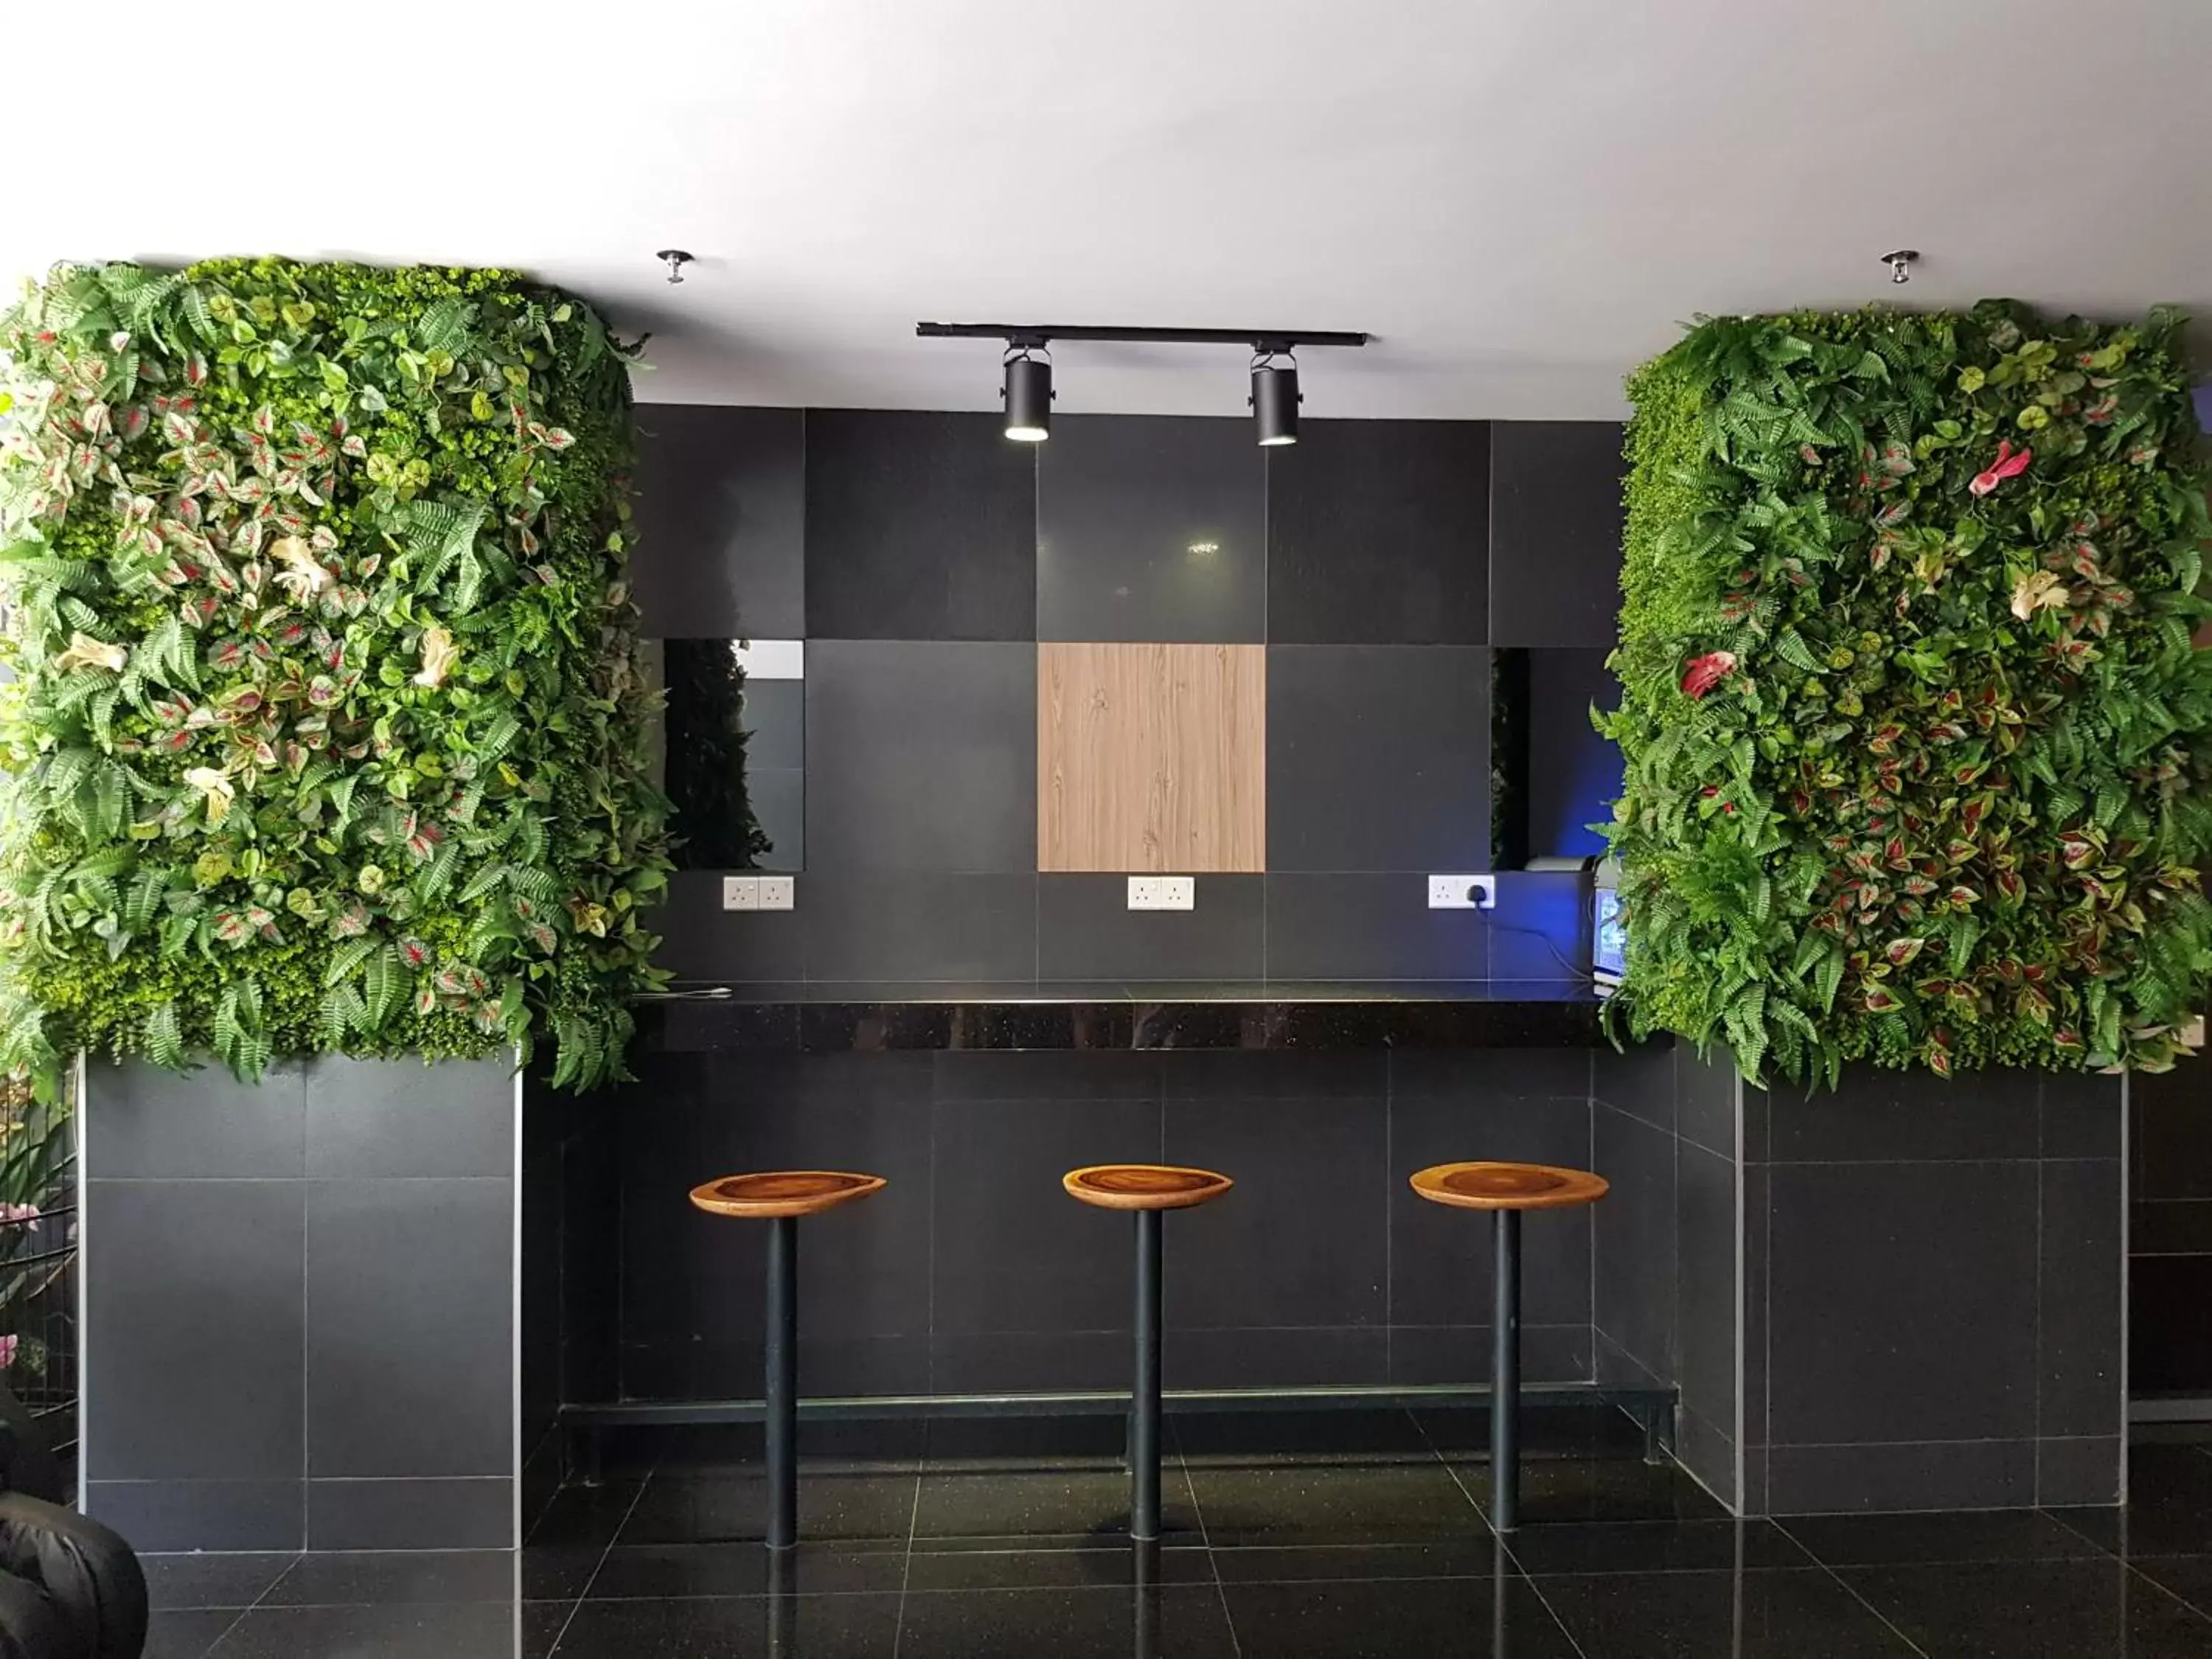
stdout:
{"type": "Polygon", "coordinates": [[[807,982],[677,987],[639,1009],[664,1053],[891,1048],[1582,1048],[1573,980],[807,982]]]}

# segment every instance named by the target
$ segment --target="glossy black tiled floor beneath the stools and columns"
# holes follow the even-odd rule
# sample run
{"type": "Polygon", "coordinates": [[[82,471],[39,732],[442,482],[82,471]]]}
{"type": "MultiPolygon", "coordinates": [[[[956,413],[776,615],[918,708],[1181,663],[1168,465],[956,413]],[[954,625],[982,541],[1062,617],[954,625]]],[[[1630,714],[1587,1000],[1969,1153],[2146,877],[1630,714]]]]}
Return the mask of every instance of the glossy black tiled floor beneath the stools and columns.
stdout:
{"type": "Polygon", "coordinates": [[[148,1557],[150,1659],[2212,1659],[2212,1447],[2128,1511],[1730,1520],[1604,1418],[1531,1425],[1498,1544],[1480,1420],[1177,1420],[1168,1540],[1121,1533],[1095,1425],[947,1425],[759,1473],[666,1458],[495,1551],[148,1557]]]}

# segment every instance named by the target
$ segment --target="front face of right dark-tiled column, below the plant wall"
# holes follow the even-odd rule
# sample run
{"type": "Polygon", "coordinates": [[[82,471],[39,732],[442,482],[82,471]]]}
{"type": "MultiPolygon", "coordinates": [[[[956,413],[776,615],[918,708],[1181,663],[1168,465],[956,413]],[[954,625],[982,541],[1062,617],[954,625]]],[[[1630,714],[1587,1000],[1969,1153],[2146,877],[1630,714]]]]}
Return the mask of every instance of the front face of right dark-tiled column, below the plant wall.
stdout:
{"type": "Polygon", "coordinates": [[[2119,1500],[2121,1091],[1849,1068],[1745,1093],[1754,1511],[2119,1500]]]}

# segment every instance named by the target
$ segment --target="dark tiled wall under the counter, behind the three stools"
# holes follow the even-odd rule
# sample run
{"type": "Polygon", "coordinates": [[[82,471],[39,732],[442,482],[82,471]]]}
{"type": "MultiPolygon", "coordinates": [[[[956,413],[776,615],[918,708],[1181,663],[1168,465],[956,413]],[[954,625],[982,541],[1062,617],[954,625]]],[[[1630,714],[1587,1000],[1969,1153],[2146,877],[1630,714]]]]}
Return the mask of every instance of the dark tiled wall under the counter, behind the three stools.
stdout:
{"type": "MultiPolygon", "coordinates": [[[[684,1194],[821,1164],[889,1188],[801,1228],[807,1391],[1117,1387],[1128,1223],[1060,1188],[1115,1159],[1239,1183],[1168,1221],[1170,1385],[1480,1385],[1491,1232],[1405,1181],[1462,1157],[1588,1164],[1588,1051],[646,1055],[611,1102],[619,1219],[571,1223],[622,1263],[619,1378],[597,1394],[757,1391],[763,1234],[684,1194]]],[[[1590,1376],[1590,1228],[1526,1223],[1531,1380],[1590,1376]]]]}

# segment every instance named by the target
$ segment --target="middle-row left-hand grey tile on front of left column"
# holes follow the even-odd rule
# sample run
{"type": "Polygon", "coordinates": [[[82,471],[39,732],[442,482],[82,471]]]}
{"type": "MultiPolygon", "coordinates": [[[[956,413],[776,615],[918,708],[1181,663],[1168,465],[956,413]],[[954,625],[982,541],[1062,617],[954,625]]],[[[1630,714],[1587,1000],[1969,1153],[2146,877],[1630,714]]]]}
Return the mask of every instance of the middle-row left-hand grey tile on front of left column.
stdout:
{"type": "Polygon", "coordinates": [[[86,1186],[93,1480],[299,1480],[301,1263],[299,1181],[86,1186]]]}

